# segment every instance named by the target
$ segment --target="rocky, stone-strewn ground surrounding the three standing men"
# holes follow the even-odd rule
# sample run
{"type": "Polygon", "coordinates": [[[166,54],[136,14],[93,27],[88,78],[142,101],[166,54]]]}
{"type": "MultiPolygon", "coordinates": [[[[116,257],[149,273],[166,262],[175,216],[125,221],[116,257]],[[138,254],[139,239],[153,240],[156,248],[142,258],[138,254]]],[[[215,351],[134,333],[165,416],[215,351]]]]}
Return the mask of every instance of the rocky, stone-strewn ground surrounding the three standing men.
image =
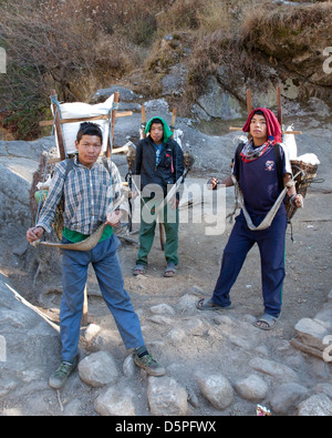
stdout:
{"type": "MultiPolygon", "coordinates": [[[[320,134],[326,139],[324,132],[303,136],[303,147],[320,134]]],[[[319,156],[324,146],[329,142],[319,142],[319,156]]],[[[252,325],[262,310],[256,248],[234,287],[235,308],[196,309],[196,301],[209,296],[215,286],[231,225],[211,237],[205,235],[204,223],[181,224],[175,278],[162,276],[157,240],[146,276],[132,276],[136,247],[124,243],[120,249],[125,287],[146,344],[166,367],[166,376],[148,377],[135,367],[91,273],[81,363],[66,386],[54,391],[48,378],[60,358],[56,327],[15,298],[20,294],[58,324],[59,254],[44,257],[22,238],[30,225],[28,192],[38,147],[42,146],[0,142],[0,415],[255,416],[258,404],[273,415],[332,415],[329,161],[321,166],[324,182],[311,187],[305,210],[293,221],[294,242],[288,231],[283,313],[276,330],[252,325]],[[35,156],[27,147],[35,147],[35,156]]],[[[210,150],[206,153],[211,157],[210,150]]],[[[125,170],[121,162],[120,169],[125,170]]],[[[232,201],[228,192],[228,208],[232,201]]]]}

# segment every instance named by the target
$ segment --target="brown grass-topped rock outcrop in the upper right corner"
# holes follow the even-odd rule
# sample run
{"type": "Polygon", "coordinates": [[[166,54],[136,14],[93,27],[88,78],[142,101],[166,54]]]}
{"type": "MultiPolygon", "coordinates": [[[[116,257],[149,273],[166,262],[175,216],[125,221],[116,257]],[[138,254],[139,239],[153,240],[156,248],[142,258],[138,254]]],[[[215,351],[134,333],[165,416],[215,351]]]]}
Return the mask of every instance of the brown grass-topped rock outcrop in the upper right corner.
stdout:
{"type": "Polygon", "coordinates": [[[286,13],[278,10],[256,20],[247,38],[255,33],[256,49],[273,57],[289,71],[300,75],[305,72],[308,81],[318,85],[331,85],[331,71],[323,70],[328,57],[324,48],[330,45],[331,19],[332,10],[326,4],[298,7],[286,13]],[[310,28],[305,23],[315,26],[310,28]]]}

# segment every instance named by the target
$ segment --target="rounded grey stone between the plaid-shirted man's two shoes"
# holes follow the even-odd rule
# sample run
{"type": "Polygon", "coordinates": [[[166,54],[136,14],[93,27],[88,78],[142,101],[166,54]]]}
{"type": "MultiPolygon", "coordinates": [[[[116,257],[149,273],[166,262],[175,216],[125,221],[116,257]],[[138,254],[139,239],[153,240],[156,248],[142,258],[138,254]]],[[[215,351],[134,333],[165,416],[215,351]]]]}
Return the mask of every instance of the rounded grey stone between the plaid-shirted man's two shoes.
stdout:
{"type": "Polygon", "coordinates": [[[116,381],[118,371],[113,356],[107,352],[93,353],[79,364],[81,379],[92,386],[100,388],[116,381]]]}

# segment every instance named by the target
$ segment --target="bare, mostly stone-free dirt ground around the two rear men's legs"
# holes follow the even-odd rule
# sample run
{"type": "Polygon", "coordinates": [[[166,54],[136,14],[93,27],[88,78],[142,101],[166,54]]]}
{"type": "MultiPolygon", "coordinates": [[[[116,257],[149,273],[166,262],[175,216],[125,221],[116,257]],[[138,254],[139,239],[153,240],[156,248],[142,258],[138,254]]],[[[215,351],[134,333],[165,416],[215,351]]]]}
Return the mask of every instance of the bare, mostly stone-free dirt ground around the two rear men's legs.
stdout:
{"type": "MultiPolygon", "coordinates": [[[[227,189],[227,204],[231,211],[234,190],[227,189]]],[[[297,212],[291,228],[287,232],[286,269],[283,287],[282,326],[283,336],[294,335],[294,325],[302,317],[313,317],[331,289],[332,220],[331,191],[311,186],[305,197],[305,208],[297,212]],[[314,212],[314,215],[312,214],[314,212]]],[[[227,221],[226,231],[220,236],[206,236],[206,224],[180,224],[179,266],[174,278],[164,278],[164,253],[160,251],[158,231],[149,256],[144,286],[132,276],[135,253],[128,244],[123,245],[120,256],[125,276],[125,285],[134,293],[136,307],[167,303],[172,306],[190,286],[198,286],[210,296],[220,269],[220,255],[227,243],[232,224],[227,221]]],[[[249,253],[242,271],[232,288],[231,301],[237,317],[262,312],[260,279],[260,255],[257,245],[249,253]]]]}

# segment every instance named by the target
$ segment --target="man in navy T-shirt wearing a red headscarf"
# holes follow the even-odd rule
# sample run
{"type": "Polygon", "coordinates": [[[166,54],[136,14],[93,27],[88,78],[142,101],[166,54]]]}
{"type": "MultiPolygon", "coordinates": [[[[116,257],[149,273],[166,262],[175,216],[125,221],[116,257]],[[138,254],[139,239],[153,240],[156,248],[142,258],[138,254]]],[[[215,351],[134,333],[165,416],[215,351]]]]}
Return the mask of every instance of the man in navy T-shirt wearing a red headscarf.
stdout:
{"type": "MultiPolygon", "coordinates": [[[[242,130],[249,133],[248,141],[238,145],[232,172],[243,195],[246,214],[249,214],[253,227],[249,227],[242,208],[236,217],[236,224],[225,247],[221,271],[212,297],[199,299],[197,308],[219,310],[232,307],[229,299],[230,289],[248,252],[257,243],[261,257],[264,313],[255,325],[270,330],[277,325],[282,305],[287,228],[283,203],[267,228],[255,227],[259,227],[270,210],[276,207],[276,201],[283,186],[289,187],[288,195],[294,205],[301,207],[303,200],[301,195],[297,195],[294,185],[290,183],[291,165],[286,150],[280,144],[281,128],[276,115],[268,109],[258,108],[250,113],[242,130]]],[[[216,179],[211,179],[209,183],[211,189],[217,189],[216,179]]],[[[227,187],[234,185],[232,176],[226,177],[221,184],[227,187]]]]}

